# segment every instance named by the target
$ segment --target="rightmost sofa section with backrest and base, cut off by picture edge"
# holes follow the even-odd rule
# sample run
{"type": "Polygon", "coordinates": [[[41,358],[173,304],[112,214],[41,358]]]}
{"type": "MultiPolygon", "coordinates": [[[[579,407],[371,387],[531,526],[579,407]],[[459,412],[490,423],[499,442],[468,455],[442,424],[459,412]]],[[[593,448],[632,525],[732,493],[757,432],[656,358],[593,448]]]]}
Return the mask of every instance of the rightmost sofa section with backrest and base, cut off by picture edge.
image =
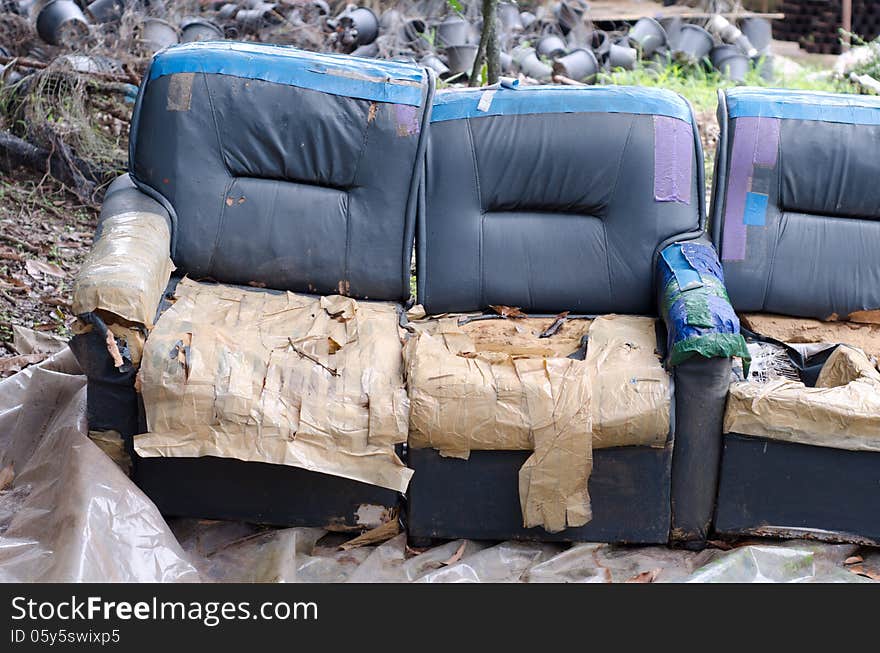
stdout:
{"type": "Polygon", "coordinates": [[[738,88],[718,121],[712,237],[734,307],[789,372],[731,386],[715,528],[876,544],[880,374],[846,345],[880,344],[859,324],[880,308],[880,100],[738,88]]]}

